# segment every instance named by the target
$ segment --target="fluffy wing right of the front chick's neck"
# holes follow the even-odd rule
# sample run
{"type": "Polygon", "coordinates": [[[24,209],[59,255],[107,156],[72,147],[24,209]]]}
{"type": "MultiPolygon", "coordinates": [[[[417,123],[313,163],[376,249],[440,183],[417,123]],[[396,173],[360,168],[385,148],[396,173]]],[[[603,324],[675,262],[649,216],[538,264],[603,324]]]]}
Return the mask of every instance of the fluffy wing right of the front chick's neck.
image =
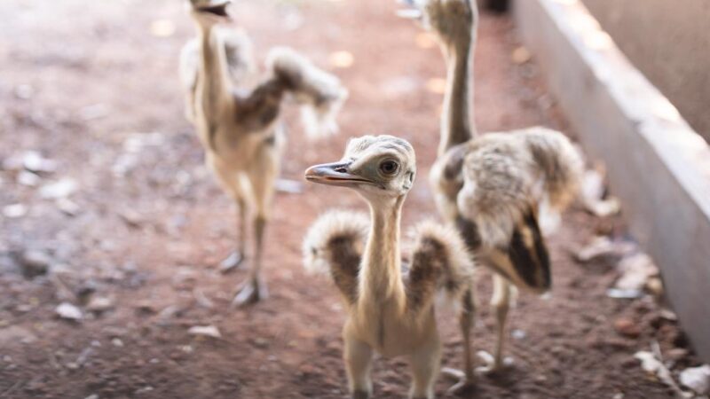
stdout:
{"type": "Polygon", "coordinates": [[[418,313],[434,301],[437,293],[450,300],[462,298],[473,283],[474,262],[454,227],[433,222],[414,228],[411,266],[406,278],[407,303],[418,313]]]}

